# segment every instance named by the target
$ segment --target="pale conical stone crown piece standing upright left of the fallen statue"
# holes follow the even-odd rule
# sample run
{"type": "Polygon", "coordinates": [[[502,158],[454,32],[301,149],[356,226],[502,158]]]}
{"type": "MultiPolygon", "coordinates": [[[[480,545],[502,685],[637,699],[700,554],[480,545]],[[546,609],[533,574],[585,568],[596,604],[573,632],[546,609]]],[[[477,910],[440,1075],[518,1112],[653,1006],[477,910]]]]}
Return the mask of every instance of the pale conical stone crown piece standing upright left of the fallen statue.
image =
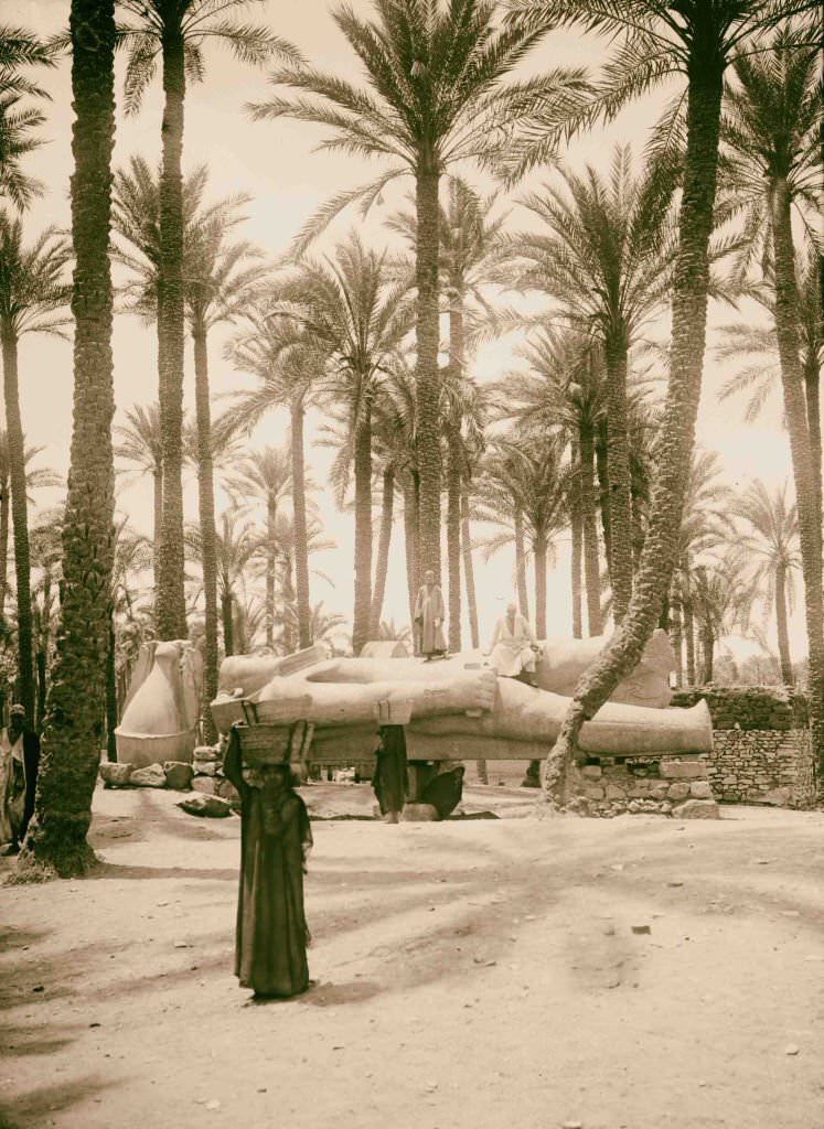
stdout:
{"type": "Polygon", "coordinates": [[[191,761],[201,692],[202,659],[191,642],[144,644],[114,730],[118,760],[136,768],[191,761]]]}

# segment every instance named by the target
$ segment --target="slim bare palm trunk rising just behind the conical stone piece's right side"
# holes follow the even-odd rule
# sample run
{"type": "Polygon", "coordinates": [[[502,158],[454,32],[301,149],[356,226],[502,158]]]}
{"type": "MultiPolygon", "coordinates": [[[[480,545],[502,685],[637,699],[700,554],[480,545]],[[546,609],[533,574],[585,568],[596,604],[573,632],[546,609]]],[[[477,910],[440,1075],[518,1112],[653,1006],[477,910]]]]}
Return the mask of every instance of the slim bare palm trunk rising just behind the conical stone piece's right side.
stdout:
{"type": "Polygon", "coordinates": [[[198,509],[200,554],[203,568],[205,654],[203,709],[205,738],[217,739],[209,702],[217,697],[217,530],[215,527],[215,471],[211,458],[211,403],[209,395],[209,353],[202,317],[192,325],[194,344],[194,417],[198,431],[198,509]]]}

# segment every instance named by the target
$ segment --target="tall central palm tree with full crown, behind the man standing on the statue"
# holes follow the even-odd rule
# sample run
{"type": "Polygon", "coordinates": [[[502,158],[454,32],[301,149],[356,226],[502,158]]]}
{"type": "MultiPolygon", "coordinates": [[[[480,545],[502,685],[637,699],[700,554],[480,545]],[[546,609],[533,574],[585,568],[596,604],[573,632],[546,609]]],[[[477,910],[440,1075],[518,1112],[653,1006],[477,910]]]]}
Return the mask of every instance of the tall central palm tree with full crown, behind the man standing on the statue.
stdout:
{"type": "Polygon", "coordinates": [[[342,208],[368,208],[390,181],[415,177],[417,290],[416,379],[420,475],[420,564],[441,575],[441,450],[439,429],[439,187],[456,163],[489,159],[532,102],[578,88],[579,72],[504,82],[543,35],[497,26],[487,0],[375,0],[375,18],[350,7],[333,11],[366,71],[370,89],[337,76],[290,67],[272,75],[277,94],[252,106],[257,119],[293,117],[330,126],[327,148],[389,158],[388,169],[363,189],[339,193],[311,221],[298,244],[314,237],[342,208]]]}

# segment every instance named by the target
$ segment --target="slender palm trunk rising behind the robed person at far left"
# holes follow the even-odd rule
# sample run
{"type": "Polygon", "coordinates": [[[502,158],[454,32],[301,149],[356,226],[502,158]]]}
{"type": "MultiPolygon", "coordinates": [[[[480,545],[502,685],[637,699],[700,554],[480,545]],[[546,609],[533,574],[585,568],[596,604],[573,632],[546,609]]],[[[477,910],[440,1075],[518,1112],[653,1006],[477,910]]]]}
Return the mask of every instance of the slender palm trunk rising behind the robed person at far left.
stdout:
{"type": "Polygon", "coordinates": [[[32,662],[32,562],[28,551],[28,506],[26,501],[26,452],[20,419],[20,388],[17,374],[17,334],[6,318],[0,322],[3,355],[6,434],[11,485],[11,524],[17,584],[17,677],[26,720],[34,725],[34,666],[32,662]]]}

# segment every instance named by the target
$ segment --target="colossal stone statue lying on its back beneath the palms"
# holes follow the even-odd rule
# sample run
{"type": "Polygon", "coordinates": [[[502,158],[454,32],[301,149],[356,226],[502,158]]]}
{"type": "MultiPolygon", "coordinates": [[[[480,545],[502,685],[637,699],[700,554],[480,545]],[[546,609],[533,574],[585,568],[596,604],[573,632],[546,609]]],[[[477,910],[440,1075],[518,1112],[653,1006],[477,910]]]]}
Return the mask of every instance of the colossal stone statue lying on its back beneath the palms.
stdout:
{"type": "MultiPolygon", "coordinates": [[[[537,666],[539,689],[498,677],[477,651],[435,663],[328,659],[320,647],[285,659],[233,658],[222,668],[212,716],[225,732],[244,719],[241,698],[249,699],[260,723],[310,723],[313,761],[353,763],[368,756],[374,744],[379,703],[405,703],[410,760],[544,758],[569,704],[555,686],[571,690],[602,641],[547,640],[537,666]]],[[[666,708],[671,657],[666,634],[656,633],[633,676],[584,725],[582,750],[639,756],[711,749],[704,702],[666,708]],[[639,699],[643,704],[633,704],[639,699]]]]}

